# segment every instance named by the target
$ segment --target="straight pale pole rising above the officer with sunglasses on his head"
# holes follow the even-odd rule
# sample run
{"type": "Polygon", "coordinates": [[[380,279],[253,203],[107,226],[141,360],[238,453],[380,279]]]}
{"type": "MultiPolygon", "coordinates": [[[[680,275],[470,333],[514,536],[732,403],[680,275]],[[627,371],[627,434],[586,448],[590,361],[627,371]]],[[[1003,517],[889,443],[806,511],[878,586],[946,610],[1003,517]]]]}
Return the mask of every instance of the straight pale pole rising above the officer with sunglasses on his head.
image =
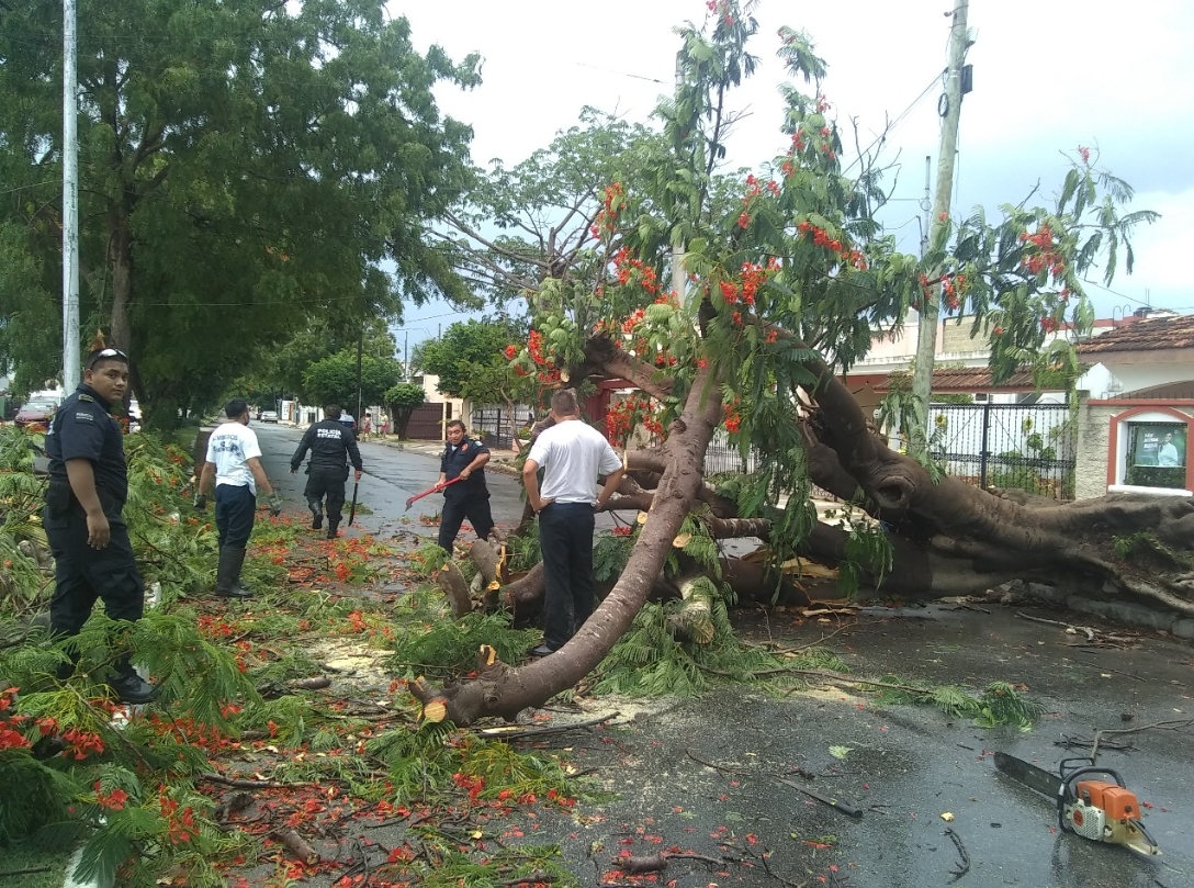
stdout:
{"type": "Polygon", "coordinates": [[[79,386],[79,43],[75,0],[62,4],[62,390],[79,386]]]}

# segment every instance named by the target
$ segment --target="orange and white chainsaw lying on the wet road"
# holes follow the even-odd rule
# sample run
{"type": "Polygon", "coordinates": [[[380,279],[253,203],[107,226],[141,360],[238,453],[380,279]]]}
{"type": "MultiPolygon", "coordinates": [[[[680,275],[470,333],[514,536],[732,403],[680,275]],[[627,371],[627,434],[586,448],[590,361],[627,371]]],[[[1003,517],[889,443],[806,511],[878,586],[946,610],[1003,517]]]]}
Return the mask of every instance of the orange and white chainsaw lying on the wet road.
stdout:
{"type": "Polygon", "coordinates": [[[1118,771],[1097,767],[1091,758],[1073,758],[1064,759],[1058,773],[1050,773],[1002,752],[995,753],[995,766],[1029,789],[1057,798],[1057,822],[1063,832],[1124,845],[1140,855],[1161,853],[1140,820],[1135,794],[1118,771]]]}

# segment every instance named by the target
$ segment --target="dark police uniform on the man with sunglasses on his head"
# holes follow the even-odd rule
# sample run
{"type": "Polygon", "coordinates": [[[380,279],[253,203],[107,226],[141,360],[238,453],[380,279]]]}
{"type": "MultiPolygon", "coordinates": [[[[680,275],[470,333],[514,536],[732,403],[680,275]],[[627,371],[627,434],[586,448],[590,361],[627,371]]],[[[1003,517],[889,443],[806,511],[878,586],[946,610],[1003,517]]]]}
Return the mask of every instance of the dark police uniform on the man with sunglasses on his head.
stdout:
{"type": "MultiPolygon", "coordinates": [[[[112,619],[140,619],[144,592],[129,543],[122,511],[129,494],[124,463],[124,434],[109,414],[107,403],[90,386],[81,384],[59,408],[45,433],[50,483],[42,523],[54,554],[54,598],[50,629],[56,635],[78,635],[91,616],[96,599],[112,619]],[[87,544],[87,513],[70,488],[68,460],[87,460],[96,475],[111,538],[103,549],[87,544]]],[[[128,656],[116,662],[117,677],[131,677],[128,656]]]]}

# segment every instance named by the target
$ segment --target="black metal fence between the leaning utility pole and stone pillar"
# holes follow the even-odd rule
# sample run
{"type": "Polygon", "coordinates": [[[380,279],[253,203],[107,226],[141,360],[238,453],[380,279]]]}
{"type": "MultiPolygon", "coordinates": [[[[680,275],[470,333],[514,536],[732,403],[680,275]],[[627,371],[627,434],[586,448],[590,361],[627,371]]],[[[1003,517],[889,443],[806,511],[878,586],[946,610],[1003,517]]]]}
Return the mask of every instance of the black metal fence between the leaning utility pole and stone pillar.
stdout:
{"type": "Polygon", "coordinates": [[[1077,428],[1064,403],[930,405],[933,455],[979,487],[1073,499],[1077,428]]]}

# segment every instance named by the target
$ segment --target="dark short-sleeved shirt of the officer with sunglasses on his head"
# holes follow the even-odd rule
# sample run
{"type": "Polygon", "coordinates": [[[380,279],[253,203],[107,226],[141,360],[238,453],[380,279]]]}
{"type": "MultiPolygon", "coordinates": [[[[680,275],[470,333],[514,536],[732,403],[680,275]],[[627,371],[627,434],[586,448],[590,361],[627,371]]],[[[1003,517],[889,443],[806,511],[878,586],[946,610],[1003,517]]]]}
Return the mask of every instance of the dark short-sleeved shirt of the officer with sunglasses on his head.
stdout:
{"type": "Polygon", "coordinates": [[[96,487],[123,506],[129,497],[124,434],[116,419],[109,415],[110,408],[96,389],[80,384],[50,420],[45,455],[50,457],[50,481],[64,483],[69,483],[67,460],[91,460],[96,487]]]}

